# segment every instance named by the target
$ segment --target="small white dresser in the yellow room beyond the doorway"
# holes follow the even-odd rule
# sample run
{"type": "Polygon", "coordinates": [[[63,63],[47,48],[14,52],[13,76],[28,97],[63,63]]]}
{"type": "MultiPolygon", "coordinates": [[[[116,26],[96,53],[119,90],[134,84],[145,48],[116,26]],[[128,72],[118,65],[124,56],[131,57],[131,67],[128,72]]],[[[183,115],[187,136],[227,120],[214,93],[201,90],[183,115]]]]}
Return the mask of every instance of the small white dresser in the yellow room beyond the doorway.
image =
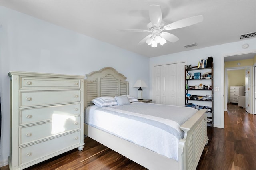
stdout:
{"type": "Polygon", "coordinates": [[[245,86],[229,87],[229,103],[238,103],[238,96],[244,96],[245,86]]]}

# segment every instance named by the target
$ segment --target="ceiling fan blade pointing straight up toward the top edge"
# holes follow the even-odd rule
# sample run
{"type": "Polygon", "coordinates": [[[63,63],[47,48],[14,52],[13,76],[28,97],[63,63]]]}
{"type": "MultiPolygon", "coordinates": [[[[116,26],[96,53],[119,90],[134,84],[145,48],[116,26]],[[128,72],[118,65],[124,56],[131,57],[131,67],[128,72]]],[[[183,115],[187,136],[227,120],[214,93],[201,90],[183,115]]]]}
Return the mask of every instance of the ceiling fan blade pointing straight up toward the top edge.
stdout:
{"type": "Polygon", "coordinates": [[[162,10],[159,5],[149,6],[149,18],[154,26],[159,26],[162,22],[162,10]]]}

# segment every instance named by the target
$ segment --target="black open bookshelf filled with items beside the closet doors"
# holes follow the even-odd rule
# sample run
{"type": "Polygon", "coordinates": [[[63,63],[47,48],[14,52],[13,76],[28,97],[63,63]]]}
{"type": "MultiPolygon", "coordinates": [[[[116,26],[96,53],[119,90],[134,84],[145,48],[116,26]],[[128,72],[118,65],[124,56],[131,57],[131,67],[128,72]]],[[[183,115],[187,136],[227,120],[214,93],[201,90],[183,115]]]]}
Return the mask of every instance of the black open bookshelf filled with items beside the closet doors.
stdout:
{"type": "Polygon", "coordinates": [[[185,105],[197,109],[207,109],[208,126],[213,127],[214,119],[214,69],[211,67],[187,68],[185,65],[185,105]]]}

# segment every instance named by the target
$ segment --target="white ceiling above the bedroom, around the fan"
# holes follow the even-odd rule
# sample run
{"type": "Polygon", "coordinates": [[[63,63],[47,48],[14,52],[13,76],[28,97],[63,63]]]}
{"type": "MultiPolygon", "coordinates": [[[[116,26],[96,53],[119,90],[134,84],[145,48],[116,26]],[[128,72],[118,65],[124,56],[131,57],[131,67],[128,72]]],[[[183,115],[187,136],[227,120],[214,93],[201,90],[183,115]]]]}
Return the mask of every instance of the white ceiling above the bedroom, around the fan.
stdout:
{"type": "Polygon", "coordinates": [[[240,35],[256,31],[255,0],[1,0],[0,5],[146,57],[236,42],[240,35]],[[150,4],[161,6],[167,24],[201,14],[204,20],[166,31],[180,40],[157,48],[137,45],[148,32],[117,32],[147,29],[150,4]],[[198,46],[184,47],[192,43],[198,46]]]}

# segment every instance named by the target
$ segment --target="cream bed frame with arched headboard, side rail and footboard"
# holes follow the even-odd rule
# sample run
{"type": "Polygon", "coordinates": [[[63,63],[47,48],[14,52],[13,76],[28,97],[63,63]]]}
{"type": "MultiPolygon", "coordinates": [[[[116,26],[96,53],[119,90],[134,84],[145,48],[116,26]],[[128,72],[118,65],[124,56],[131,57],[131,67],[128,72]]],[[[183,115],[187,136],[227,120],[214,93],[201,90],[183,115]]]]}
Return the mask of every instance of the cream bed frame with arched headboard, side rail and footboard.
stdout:
{"type": "MultiPolygon", "coordinates": [[[[91,100],[96,97],[129,94],[129,83],[126,81],[126,77],[111,67],[94,71],[86,77],[84,107],[93,105],[91,100]]],[[[201,109],[180,127],[185,135],[179,143],[179,161],[152,152],[85,123],[84,134],[150,170],[195,170],[204,146],[209,140],[206,136],[205,112],[206,109],[201,109]]]]}

